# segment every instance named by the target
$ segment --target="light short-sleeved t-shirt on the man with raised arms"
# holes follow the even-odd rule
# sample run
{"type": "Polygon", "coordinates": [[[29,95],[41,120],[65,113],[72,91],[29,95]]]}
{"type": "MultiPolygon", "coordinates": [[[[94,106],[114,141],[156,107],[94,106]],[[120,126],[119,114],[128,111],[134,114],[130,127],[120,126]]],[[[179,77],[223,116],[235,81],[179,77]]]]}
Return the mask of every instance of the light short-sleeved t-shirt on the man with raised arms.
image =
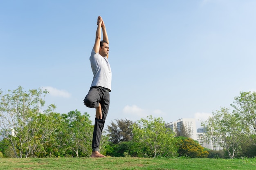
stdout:
{"type": "Polygon", "coordinates": [[[90,62],[93,73],[92,86],[101,86],[111,91],[112,72],[107,57],[102,57],[92,49],[90,62]]]}

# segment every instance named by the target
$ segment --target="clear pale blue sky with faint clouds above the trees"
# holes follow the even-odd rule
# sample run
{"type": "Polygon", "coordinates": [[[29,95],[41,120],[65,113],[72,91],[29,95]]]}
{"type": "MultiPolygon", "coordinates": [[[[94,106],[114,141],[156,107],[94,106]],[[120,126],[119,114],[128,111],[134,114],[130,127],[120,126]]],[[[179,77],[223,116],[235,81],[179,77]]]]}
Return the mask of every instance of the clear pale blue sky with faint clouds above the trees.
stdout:
{"type": "Polygon", "coordinates": [[[56,112],[93,120],[83,99],[101,15],[112,68],[106,124],[205,120],[256,91],[255,9],[255,0],[0,0],[0,88],[47,88],[56,112]]]}

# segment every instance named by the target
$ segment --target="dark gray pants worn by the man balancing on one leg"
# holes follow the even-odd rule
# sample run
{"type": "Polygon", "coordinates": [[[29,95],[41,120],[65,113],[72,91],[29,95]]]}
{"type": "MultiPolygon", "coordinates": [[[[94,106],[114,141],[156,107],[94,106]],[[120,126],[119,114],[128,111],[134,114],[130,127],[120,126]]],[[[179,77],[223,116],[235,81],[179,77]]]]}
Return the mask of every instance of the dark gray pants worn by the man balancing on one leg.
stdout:
{"type": "Polygon", "coordinates": [[[97,108],[99,103],[101,104],[102,119],[95,117],[95,124],[92,138],[92,151],[99,151],[99,144],[101,141],[101,134],[105,124],[106,117],[108,115],[109,108],[109,91],[107,88],[100,86],[92,86],[83,100],[85,106],[89,108],[97,108]]]}

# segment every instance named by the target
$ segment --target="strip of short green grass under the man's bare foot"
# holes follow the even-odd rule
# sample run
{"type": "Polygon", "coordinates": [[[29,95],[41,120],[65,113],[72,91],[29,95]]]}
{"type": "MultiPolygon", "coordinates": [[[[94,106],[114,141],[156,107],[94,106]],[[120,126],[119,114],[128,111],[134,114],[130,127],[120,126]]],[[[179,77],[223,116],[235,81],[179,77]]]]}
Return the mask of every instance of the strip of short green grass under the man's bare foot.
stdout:
{"type": "Polygon", "coordinates": [[[0,159],[0,170],[256,170],[256,159],[125,157],[0,159]]]}

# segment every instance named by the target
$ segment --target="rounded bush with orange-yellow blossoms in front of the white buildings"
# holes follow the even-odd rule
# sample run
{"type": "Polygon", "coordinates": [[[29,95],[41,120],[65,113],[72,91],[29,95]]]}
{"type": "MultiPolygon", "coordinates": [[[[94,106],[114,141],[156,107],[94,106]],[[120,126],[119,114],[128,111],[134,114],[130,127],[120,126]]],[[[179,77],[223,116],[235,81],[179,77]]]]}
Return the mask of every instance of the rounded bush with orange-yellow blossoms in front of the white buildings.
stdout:
{"type": "Polygon", "coordinates": [[[178,137],[179,155],[191,158],[206,158],[209,155],[204,147],[189,137],[178,137]]]}

